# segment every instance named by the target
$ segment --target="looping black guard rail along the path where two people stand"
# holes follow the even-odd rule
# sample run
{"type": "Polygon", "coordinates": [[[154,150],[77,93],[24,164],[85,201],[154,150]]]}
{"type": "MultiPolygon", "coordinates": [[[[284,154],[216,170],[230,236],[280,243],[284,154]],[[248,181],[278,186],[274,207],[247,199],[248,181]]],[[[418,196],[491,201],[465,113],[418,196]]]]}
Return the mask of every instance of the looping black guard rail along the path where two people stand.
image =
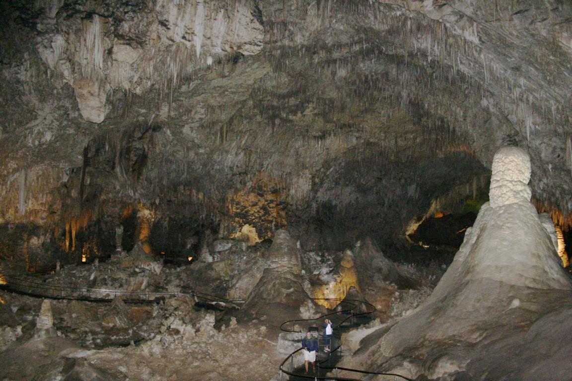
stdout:
{"type": "MultiPolygon", "coordinates": [[[[339,331],[339,328],[351,327],[356,323],[359,323],[358,320],[362,320],[364,318],[368,318],[368,320],[373,320],[373,314],[376,311],[376,308],[373,304],[364,302],[363,300],[355,300],[355,299],[336,299],[336,298],[313,298],[313,300],[329,300],[333,302],[339,302],[336,307],[336,310],[320,316],[319,318],[315,319],[296,319],[296,320],[288,320],[280,325],[280,330],[284,332],[300,332],[300,340],[302,339],[301,336],[303,334],[302,330],[296,330],[296,325],[300,325],[301,323],[311,324],[312,322],[320,323],[323,321],[324,318],[339,320],[334,326],[334,332],[339,331]],[[360,307],[365,307],[365,311],[360,311],[360,307]],[[349,323],[349,324],[348,324],[349,323]]],[[[319,324],[318,324],[319,326],[319,324]]],[[[323,335],[319,334],[319,336],[323,337],[323,335]]],[[[319,342],[323,341],[323,338],[318,339],[319,342]]],[[[319,347],[323,347],[323,344],[319,344],[319,347]]],[[[308,375],[302,374],[300,372],[296,372],[294,366],[294,356],[300,352],[302,348],[293,351],[291,354],[288,355],[287,358],[280,364],[280,381],[286,381],[291,378],[296,379],[308,379],[308,380],[340,380],[340,381],[360,381],[363,375],[384,375],[384,376],[393,376],[395,380],[407,380],[413,381],[405,376],[394,374],[394,373],[383,373],[383,372],[370,372],[360,369],[352,369],[352,368],[344,368],[339,366],[327,366],[326,363],[329,362],[331,356],[339,351],[339,355],[341,356],[342,352],[342,343],[340,337],[333,337],[332,343],[330,346],[330,351],[327,353],[327,358],[323,360],[316,359],[317,365],[317,374],[316,375],[308,375]],[[356,378],[347,378],[347,377],[339,377],[338,372],[345,371],[350,373],[355,373],[356,378]],[[333,375],[332,375],[333,374],[333,375]]]]}

